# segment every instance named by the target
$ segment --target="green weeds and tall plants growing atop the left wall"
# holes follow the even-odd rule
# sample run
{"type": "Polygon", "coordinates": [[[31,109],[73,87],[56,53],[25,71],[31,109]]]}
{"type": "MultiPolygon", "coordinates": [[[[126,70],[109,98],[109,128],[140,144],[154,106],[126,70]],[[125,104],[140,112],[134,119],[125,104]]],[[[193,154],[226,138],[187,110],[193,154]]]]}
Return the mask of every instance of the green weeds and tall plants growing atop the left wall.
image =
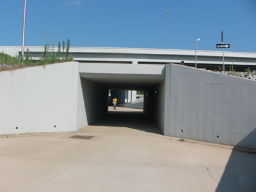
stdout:
{"type": "MultiPolygon", "coordinates": [[[[70,40],[67,40],[67,47],[65,47],[65,42],[62,42],[62,51],[63,56],[61,58],[61,45],[58,43],[58,52],[55,51],[54,45],[50,46],[48,43],[44,46],[44,52],[42,52],[41,58],[38,61],[32,60],[29,57],[29,49],[26,51],[26,56],[22,61],[21,56],[12,57],[8,54],[0,53],[0,65],[6,64],[11,65],[12,68],[20,68],[20,67],[29,67],[36,65],[45,65],[50,63],[60,63],[65,61],[73,61],[73,57],[70,54],[70,40]],[[65,52],[66,48],[66,52],[65,52]]],[[[1,70],[10,70],[10,67],[1,67],[1,70]]]]}

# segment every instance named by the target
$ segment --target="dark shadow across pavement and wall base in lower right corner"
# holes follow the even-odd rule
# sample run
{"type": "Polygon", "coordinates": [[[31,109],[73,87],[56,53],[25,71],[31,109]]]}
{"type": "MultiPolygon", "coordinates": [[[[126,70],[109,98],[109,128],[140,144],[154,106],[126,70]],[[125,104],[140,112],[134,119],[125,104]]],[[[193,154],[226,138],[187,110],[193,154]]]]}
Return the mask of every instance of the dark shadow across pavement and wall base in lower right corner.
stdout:
{"type": "MultiPolygon", "coordinates": [[[[255,148],[256,129],[236,147],[248,143],[252,143],[252,148],[255,148]]],[[[256,191],[256,154],[233,150],[216,191],[256,191]]]]}

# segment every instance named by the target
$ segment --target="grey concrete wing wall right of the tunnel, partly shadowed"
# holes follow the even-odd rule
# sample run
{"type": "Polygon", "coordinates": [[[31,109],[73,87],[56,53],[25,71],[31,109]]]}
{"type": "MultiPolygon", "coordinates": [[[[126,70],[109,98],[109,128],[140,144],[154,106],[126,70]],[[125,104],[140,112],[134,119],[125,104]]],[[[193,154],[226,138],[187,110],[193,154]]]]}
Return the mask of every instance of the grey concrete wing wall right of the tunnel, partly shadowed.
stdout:
{"type": "Polygon", "coordinates": [[[256,148],[255,81],[168,64],[166,96],[165,135],[256,148]]]}

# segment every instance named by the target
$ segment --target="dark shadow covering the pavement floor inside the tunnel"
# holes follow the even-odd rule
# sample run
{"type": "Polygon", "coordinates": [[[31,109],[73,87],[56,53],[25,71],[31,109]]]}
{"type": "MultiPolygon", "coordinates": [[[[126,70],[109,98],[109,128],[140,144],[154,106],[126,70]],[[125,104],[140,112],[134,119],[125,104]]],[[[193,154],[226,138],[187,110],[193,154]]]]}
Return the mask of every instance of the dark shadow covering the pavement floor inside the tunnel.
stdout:
{"type": "Polygon", "coordinates": [[[93,124],[98,126],[128,127],[155,134],[163,133],[157,125],[143,111],[109,111],[99,122],[93,124]]]}

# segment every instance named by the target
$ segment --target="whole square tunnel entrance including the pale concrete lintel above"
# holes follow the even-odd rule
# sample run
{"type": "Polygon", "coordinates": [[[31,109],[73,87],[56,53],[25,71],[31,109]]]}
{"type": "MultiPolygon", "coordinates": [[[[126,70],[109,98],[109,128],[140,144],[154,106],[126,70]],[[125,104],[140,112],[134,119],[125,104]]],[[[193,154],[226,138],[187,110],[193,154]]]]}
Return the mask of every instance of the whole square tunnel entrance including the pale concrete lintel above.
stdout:
{"type": "MultiPolygon", "coordinates": [[[[83,63],[80,80],[88,125],[115,125],[163,132],[165,65],[83,63]],[[142,109],[125,108],[136,91],[143,92],[142,109]],[[127,97],[125,94],[127,93],[127,97]],[[116,97],[117,110],[111,102],[116,97]],[[149,124],[148,124],[149,123],[149,124]],[[141,127],[141,128],[140,128],[141,127]],[[144,128],[143,128],[144,127],[144,128]],[[159,131],[161,130],[161,131],[159,131]]],[[[135,96],[136,97],[136,96],[135,96]]]]}

